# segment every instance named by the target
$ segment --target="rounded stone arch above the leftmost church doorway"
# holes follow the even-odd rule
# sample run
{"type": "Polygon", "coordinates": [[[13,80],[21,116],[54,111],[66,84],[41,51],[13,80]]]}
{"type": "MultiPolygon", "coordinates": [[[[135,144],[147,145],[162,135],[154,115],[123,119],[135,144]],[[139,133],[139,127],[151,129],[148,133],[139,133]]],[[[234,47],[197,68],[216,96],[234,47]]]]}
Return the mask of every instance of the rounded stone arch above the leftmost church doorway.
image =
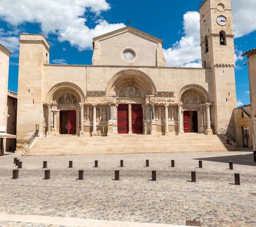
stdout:
{"type": "Polygon", "coordinates": [[[59,103],[58,98],[63,97],[65,94],[69,95],[71,100],[69,104],[85,101],[85,94],[79,86],[71,82],[62,82],[57,83],[50,89],[46,95],[46,102],[56,101],[56,103],[59,103]]]}

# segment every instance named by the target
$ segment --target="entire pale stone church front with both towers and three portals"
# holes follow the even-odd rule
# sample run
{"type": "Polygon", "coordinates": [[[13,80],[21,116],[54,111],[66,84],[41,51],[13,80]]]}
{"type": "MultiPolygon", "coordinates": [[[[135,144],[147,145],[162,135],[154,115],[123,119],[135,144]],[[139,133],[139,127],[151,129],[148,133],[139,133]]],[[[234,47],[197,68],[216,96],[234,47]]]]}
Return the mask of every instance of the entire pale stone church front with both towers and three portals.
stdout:
{"type": "Polygon", "coordinates": [[[21,34],[18,143],[40,136],[234,131],[231,1],[200,6],[202,68],[165,66],[163,40],[121,28],[93,39],[92,65],[50,65],[40,34],[21,34]]]}

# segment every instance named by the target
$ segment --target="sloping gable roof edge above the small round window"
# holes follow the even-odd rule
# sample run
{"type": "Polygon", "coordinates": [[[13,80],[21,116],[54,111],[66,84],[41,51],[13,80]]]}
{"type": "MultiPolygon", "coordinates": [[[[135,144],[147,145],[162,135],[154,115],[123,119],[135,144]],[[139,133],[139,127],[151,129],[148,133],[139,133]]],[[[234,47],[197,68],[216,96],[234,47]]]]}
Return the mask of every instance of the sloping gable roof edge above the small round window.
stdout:
{"type": "Polygon", "coordinates": [[[136,34],[137,36],[146,38],[146,39],[151,40],[151,41],[156,42],[156,43],[162,43],[164,41],[162,39],[159,39],[158,37],[155,37],[155,36],[152,36],[150,34],[144,33],[143,31],[140,31],[140,30],[138,30],[136,28],[133,28],[133,27],[130,27],[130,26],[120,28],[120,29],[115,30],[115,31],[111,31],[110,33],[106,33],[106,34],[103,34],[101,36],[94,37],[94,39],[92,39],[92,40],[97,41],[97,40],[107,39],[109,37],[117,36],[118,34],[123,34],[123,33],[127,33],[127,32],[136,34]]]}

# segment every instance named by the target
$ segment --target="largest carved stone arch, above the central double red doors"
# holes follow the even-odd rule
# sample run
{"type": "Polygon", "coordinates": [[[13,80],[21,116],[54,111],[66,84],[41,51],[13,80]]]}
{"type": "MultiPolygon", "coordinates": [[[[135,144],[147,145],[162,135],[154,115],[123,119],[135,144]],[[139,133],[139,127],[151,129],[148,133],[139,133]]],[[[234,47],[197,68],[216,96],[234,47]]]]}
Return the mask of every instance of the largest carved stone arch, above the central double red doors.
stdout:
{"type": "Polygon", "coordinates": [[[152,79],[146,73],[135,69],[127,69],[115,74],[107,85],[106,94],[118,96],[122,89],[129,86],[139,89],[141,97],[156,94],[156,86],[152,79]]]}

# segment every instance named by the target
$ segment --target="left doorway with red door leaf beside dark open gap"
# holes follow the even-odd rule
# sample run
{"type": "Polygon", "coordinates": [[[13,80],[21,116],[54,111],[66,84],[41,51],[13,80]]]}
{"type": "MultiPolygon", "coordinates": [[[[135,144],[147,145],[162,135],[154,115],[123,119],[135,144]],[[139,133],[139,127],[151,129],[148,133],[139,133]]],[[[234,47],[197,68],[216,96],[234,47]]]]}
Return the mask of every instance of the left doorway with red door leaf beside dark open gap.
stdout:
{"type": "Polygon", "coordinates": [[[74,135],[76,132],[77,114],[75,110],[60,110],[60,134],[74,135]]]}

